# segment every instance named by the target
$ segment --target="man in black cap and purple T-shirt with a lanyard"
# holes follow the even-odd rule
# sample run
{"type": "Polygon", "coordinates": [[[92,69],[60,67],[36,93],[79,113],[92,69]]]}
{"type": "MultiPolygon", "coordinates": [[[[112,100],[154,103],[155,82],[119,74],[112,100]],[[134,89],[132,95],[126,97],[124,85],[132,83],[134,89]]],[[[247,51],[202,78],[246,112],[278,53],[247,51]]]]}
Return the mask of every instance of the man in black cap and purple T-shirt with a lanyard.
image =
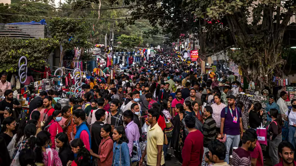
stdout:
{"type": "Polygon", "coordinates": [[[231,147],[238,147],[240,138],[243,135],[242,128],[242,111],[235,105],[235,96],[227,97],[228,106],[221,111],[221,127],[220,134],[226,134],[226,158],[229,163],[229,150],[231,147]],[[241,131],[241,133],[239,132],[241,131]]]}

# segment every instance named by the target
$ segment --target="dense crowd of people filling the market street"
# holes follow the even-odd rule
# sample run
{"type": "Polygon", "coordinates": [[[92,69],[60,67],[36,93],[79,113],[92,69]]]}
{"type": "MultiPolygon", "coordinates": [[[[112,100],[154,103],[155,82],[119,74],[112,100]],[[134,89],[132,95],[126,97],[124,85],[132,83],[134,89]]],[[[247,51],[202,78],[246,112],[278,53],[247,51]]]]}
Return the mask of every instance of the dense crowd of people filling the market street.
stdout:
{"type": "Polygon", "coordinates": [[[162,52],[113,73],[114,80],[100,73],[84,79],[83,95],[70,97],[64,107],[56,102],[59,92],[42,91],[25,116],[13,91],[6,90],[0,102],[0,165],[164,166],[172,157],[183,166],[263,166],[266,158],[272,165],[295,165],[296,100],[289,110],[286,92],[279,99],[268,96],[268,147],[261,148],[256,130],[262,105],[244,110],[236,101],[244,89],[231,72],[208,79],[199,65],[162,52]],[[220,82],[227,85],[219,87],[220,82]]]}

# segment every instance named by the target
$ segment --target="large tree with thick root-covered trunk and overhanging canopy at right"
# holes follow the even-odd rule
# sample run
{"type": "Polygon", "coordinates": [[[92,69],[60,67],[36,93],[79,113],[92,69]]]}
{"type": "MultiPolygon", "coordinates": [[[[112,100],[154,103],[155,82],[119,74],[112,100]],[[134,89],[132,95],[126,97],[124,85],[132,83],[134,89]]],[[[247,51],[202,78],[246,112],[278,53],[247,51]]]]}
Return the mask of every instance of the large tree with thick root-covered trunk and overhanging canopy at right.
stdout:
{"type": "MultiPolygon", "coordinates": [[[[110,0],[116,4],[117,0],[110,0]]],[[[189,35],[199,39],[200,55],[224,51],[245,76],[263,88],[281,75],[283,36],[295,14],[293,0],[124,0],[136,4],[126,24],[148,19],[151,34],[171,34],[171,41],[189,35]],[[231,51],[230,48],[236,48],[231,51]],[[269,79],[269,80],[267,80],[269,79]]]]}

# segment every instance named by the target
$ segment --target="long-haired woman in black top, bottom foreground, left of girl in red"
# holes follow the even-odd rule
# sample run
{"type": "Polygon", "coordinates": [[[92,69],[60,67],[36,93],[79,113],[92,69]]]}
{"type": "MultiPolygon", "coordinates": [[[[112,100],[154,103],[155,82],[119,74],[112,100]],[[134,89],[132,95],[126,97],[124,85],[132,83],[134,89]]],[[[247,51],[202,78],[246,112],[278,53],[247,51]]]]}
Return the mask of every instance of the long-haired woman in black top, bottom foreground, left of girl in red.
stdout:
{"type": "Polygon", "coordinates": [[[69,161],[74,160],[74,154],[71,150],[68,136],[65,133],[59,133],[55,138],[56,147],[59,148],[59,158],[61,159],[63,166],[67,166],[69,161]]]}

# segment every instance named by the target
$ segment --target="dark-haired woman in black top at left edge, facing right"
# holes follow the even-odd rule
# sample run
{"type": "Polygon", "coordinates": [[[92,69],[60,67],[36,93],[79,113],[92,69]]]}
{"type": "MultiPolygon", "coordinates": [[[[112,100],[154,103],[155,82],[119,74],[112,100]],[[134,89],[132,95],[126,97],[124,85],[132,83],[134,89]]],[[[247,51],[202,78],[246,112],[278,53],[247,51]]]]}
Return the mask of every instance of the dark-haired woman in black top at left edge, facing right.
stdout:
{"type": "Polygon", "coordinates": [[[15,130],[15,126],[16,126],[15,118],[9,116],[4,119],[1,125],[3,126],[0,131],[0,136],[4,138],[7,146],[13,137],[12,131],[15,130]]]}

